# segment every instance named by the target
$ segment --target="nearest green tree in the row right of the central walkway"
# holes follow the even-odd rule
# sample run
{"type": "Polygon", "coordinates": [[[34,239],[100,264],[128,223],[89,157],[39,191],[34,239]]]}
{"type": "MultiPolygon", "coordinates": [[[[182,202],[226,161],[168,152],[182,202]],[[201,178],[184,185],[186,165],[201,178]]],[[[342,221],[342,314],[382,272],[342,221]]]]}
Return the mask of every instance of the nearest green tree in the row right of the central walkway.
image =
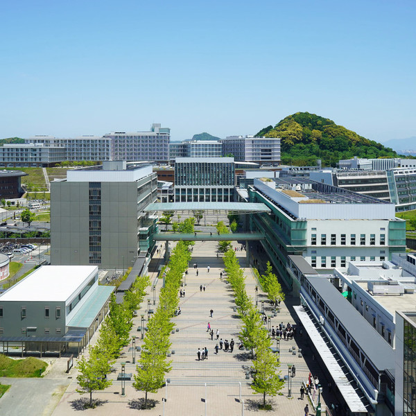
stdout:
{"type": "Polygon", "coordinates": [[[266,395],[275,396],[284,386],[284,381],[279,377],[279,367],[279,357],[272,353],[267,343],[257,348],[252,366],[254,378],[251,388],[253,394],[263,394],[263,408],[266,408],[266,395]]]}

